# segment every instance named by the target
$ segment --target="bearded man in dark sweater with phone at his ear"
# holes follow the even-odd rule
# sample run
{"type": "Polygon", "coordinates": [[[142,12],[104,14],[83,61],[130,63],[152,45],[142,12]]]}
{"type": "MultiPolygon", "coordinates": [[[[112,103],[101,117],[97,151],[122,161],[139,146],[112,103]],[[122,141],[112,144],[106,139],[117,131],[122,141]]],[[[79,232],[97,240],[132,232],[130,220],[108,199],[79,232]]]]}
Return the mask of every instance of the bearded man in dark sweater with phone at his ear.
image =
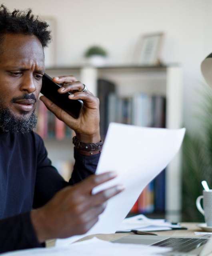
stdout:
{"type": "Polygon", "coordinates": [[[10,13],[3,5],[0,8],[0,252],[84,234],[98,221],[105,202],[123,190],[117,185],[91,193],[116,174],[91,175],[100,152],[88,152],[86,147],[90,143],[101,146],[99,102],[83,91],[84,85],[74,76],[55,77],[54,82],[63,84],[58,93],[71,91],[70,100],[84,101],[78,119],[46,97],[40,98],[76,132],[81,145],[80,151],[74,149],[76,162],[69,182],[51,166],[42,139],[32,131],[44,74],[43,48],[50,41],[47,28],[31,10],[10,13]]]}

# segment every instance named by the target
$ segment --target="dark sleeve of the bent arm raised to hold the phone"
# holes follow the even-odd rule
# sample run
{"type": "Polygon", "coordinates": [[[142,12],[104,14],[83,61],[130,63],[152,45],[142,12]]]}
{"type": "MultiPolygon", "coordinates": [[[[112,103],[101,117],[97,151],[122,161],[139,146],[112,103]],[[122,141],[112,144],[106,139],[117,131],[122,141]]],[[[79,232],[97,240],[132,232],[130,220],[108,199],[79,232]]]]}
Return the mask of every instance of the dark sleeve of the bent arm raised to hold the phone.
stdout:
{"type": "Polygon", "coordinates": [[[74,169],[69,182],[66,182],[52,166],[44,142],[38,134],[36,134],[36,148],[38,160],[33,208],[43,206],[62,188],[74,185],[96,172],[100,154],[84,156],[74,149],[74,169]]]}

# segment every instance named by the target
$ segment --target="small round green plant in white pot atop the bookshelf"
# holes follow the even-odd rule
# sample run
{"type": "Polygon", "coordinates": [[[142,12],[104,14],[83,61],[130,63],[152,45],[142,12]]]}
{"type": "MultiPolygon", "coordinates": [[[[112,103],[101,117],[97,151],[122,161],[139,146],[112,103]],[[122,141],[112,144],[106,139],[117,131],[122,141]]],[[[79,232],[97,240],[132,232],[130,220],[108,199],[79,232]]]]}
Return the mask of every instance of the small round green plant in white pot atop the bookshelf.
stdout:
{"type": "Polygon", "coordinates": [[[86,50],[84,56],[92,66],[104,66],[106,63],[107,52],[101,46],[94,45],[86,50]]]}

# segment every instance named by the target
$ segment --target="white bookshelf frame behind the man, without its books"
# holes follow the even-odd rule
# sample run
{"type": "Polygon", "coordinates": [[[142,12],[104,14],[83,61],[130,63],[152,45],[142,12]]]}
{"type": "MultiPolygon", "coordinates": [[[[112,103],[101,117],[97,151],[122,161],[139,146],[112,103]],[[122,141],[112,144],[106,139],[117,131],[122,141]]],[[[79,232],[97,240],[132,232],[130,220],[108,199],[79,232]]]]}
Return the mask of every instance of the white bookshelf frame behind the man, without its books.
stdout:
{"type": "MultiPolygon", "coordinates": [[[[106,79],[116,84],[120,97],[136,93],[153,94],[166,98],[166,128],[182,128],[182,68],[169,66],[104,66],[104,67],[52,67],[46,69],[50,76],[74,75],[97,96],[97,80],[106,79]]],[[[73,146],[70,138],[61,141],[44,139],[52,164],[60,160],[73,162],[73,146]]],[[[181,152],[166,168],[166,218],[181,219],[181,152]]]]}

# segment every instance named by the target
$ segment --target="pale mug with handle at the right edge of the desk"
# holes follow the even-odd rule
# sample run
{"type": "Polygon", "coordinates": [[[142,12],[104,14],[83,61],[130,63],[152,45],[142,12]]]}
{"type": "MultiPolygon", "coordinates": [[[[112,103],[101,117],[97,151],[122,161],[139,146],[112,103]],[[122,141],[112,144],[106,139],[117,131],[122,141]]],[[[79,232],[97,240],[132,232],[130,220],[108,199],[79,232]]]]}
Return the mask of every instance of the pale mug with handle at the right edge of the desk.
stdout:
{"type": "Polygon", "coordinates": [[[204,215],[205,222],[207,226],[212,226],[212,190],[203,190],[203,196],[198,196],[196,198],[196,207],[204,215]],[[200,204],[201,199],[203,199],[203,208],[200,204]]]}

